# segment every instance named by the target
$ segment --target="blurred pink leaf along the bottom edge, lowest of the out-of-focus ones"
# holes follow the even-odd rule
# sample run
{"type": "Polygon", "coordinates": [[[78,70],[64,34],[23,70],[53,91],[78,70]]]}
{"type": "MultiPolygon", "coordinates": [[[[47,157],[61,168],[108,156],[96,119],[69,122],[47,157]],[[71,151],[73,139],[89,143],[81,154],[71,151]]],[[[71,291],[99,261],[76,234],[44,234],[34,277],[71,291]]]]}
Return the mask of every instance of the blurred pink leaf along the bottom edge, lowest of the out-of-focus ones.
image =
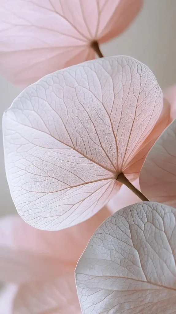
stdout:
{"type": "Polygon", "coordinates": [[[13,314],[81,314],[74,275],[22,285],[13,314]]]}

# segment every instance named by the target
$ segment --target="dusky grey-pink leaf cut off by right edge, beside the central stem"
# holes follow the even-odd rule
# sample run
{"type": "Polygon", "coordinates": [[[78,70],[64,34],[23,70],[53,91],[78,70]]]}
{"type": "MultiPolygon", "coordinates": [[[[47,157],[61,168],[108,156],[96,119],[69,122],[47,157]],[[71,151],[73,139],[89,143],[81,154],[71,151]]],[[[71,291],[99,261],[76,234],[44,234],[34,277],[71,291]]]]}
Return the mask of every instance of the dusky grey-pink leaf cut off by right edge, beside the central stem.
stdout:
{"type": "Polygon", "coordinates": [[[139,180],[141,191],[149,200],[176,207],[176,120],[149,151],[139,180]]]}

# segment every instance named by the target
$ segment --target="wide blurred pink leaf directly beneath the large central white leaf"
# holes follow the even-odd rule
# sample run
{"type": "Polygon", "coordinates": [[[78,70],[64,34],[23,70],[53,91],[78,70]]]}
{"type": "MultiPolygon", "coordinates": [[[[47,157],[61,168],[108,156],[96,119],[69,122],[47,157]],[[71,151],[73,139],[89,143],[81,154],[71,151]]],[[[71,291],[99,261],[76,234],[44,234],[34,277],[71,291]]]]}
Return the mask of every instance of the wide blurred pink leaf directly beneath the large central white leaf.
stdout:
{"type": "Polygon", "coordinates": [[[61,231],[38,230],[18,216],[0,220],[0,280],[18,284],[73,273],[90,237],[109,216],[106,208],[61,231]]]}

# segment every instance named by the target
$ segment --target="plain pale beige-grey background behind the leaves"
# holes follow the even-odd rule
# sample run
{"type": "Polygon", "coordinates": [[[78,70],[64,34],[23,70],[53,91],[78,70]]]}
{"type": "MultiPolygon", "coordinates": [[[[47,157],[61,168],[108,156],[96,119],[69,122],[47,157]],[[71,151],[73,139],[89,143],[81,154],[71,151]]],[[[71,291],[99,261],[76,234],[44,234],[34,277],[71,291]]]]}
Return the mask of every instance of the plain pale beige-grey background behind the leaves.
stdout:
{"type": "MultiPolygon", "coordinates": [[[[176,0],[144,0],[130,28],[101,49],[104,56],[123,54],[145,63],[162,88],[176,83],[176,0]]],[[[0,78],[1,115],[19,92],[0,78]]],[[[5,176],[2,131],[0,149],[0,214],[4,215],[16,211],[5,176]]]]}

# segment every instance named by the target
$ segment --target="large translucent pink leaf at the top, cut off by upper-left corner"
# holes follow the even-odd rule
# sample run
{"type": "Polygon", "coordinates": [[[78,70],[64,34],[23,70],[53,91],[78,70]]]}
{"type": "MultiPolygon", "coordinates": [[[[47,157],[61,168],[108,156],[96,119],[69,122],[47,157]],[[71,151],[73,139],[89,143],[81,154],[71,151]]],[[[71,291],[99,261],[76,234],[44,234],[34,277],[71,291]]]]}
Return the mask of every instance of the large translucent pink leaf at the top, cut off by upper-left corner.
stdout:
{"type": "Polygon", "coordinates": [[[92,41],[123,32],[142,0],[7,0],[0,9],[0,69],[27,86],[95,58],[92,41]]]}

